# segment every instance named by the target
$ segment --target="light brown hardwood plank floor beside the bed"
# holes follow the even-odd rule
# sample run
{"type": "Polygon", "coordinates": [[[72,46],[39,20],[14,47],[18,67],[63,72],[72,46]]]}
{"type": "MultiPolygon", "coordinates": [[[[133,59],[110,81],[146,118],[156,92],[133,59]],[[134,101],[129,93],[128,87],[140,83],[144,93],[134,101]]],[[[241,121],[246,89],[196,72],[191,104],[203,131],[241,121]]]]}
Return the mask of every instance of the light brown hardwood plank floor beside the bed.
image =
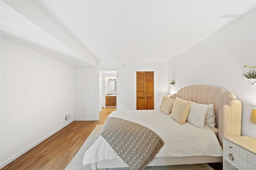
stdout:
{"type": "MultiPolygon", "coordinates": [[[[99,121],[74,121],[1,170],[64,170],[96,125],[104,124],[115,107],[102,108],[99,121]]],[[[209,164],[222,170],[222,163],[209,164]]]]}

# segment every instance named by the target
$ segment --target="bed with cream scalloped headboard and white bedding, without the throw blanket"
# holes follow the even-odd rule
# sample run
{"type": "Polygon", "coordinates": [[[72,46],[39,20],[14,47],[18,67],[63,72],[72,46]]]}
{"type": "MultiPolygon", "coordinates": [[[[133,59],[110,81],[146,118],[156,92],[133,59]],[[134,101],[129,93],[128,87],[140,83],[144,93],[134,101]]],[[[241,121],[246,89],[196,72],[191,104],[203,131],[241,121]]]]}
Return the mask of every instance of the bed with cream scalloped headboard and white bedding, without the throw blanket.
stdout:
{"type": "MultiPolygon", "coordinates": [[[[126,110],[111,113],[109,119],[136,123],[160,136],[164,145],[147,166],[222,162],[223,137],[240,136],[241,132],[242,104],[236,99],[234,93],[210,85],[190,85],[180,89],[170,96],[170,99],[175,99],[170,114],[164,114],[163,109],[126,110]],[[214,127],[207,124],[200,125],[202,127],[199,126],[199,128],[197,124],[193,124],[194,122],[188,122],[188,115],[183,124],[179,123],[173,111],[177,110],[178,102],[189,103],[190,120],[193,119],[190,111],[192,112],[192,108],[195,108],[195,106],[192,107],[193,103],[193,105],[202,104],[200,107],[204,105],[208,110],[211,105],[214,110],[214,127]]],[[[128,167],[105,139],[99,136],[87,150],[84,164],[90,163],[94,169],[128,167]]]]}

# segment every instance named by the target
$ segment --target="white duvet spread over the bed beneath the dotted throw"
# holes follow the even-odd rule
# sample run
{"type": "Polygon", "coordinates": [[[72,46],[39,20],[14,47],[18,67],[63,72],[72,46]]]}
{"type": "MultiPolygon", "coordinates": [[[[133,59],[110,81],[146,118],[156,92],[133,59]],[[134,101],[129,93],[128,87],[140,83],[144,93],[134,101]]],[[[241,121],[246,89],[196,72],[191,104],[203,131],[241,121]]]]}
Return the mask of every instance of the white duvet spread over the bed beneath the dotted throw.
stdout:
{"type": "MultiPolygon", "coordinates": [[[[210,127],[198,128],[188,122],[180,125],[160,110],[114,111],[109,117],[126,119],[150,128],[164,141],[156,157],[222,156],[222,148],[210,127]]],[[[84,154],[83,164],[119,158],[118,154],[99,136],[84,154]]]]}

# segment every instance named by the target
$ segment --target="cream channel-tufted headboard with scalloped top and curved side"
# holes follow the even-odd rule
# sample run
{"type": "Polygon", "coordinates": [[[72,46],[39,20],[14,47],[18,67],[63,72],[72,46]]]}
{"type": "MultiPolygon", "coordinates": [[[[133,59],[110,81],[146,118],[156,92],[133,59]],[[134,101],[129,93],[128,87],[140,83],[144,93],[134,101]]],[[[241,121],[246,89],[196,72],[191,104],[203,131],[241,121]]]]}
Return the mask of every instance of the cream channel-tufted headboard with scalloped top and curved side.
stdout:
{"type": "Polygon", "coordinates": [[[170,98],[176,97],[201,104],[214,104],[220,144],[224,136],[241,135],[242,103],[234,93],[216,86],[190,85],[181,88],[170,98]]]}

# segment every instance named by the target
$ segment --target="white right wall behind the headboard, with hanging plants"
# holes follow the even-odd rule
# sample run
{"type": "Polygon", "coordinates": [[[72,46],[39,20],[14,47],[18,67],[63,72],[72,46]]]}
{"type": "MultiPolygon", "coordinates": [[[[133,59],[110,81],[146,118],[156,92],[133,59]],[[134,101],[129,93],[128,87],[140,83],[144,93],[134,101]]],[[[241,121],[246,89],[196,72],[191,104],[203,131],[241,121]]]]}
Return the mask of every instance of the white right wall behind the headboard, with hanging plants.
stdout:
{"type": "MultiPolygon", "coordinates": [[[[256,66],[256,10],[226,26],[168,62],[169,93],[193,84],[222,87],[242,101],[242,135],[256,137],[249,122],[256,107],[256,86],[243,80],[244,65],[256,66]]],[[[200,30],[199,30],[200,31],[200,30]]]]}

